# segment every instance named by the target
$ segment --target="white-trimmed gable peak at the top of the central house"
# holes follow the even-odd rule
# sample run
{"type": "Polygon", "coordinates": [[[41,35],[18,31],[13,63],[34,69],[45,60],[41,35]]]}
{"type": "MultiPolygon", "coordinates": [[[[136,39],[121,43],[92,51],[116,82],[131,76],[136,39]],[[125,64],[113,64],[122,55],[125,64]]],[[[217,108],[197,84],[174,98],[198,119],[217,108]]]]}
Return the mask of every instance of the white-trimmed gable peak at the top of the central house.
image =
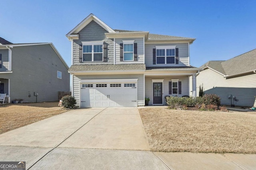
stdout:
{"type": "Polygon", "coordinates": [[[86,25],[88,25],[91,21],[95,21],[98,23],[102,28],[106,29],[109,33],[115,33],[115,31],[110,28],[106,23],[101,21],[99,18],[97,18],[94,14],[88,15],[82,22],[80,22],[76,27],[74,27],[67,35],[66,37],[72,38],[70,35],[77,34],[79,31],[81,31],[86,25]]]}

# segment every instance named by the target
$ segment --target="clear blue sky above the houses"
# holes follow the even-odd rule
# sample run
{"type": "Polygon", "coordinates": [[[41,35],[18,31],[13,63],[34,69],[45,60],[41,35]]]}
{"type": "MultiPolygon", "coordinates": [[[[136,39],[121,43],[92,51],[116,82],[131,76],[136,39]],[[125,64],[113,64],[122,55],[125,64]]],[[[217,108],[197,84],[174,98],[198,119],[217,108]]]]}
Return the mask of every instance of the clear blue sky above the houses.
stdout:
{"type": "Polygon", "coordinates": [[[66,34],[90,13],[112,29],[196,38],[190,64],[228,60],[256,49],[255,0],[0,1],[0,37],[12,43],[52,42],[71,65],[66,34]]]}

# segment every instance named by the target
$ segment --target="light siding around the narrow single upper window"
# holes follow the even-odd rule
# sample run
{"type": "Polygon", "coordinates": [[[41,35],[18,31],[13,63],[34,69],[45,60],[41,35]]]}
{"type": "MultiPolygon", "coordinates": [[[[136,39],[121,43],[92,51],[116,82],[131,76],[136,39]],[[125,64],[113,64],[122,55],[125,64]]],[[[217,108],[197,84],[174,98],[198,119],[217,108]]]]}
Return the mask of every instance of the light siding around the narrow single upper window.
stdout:
{"type": "Polygon", "coordinates": [[[143,38],[117,38],[116,41],[116,64],[143,64],[144,63],[144,41],[143,38]],[[123,40],[134,40],[137,43],[138,61],[120,61],[120,43],[123,40]]]}

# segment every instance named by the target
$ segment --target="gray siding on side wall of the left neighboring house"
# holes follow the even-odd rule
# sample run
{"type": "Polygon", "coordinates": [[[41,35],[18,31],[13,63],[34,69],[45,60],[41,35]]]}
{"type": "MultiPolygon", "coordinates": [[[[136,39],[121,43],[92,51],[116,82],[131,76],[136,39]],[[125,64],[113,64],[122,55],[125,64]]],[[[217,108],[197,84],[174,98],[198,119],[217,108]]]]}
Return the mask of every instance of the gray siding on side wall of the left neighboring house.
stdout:
{"type": "Polygon", "coordinates": [[[12,73],[0,74],[10,79],[10,101],[23,99],[36,102],[58,101],[58,91],[70,91],[70,74],[50,45],[12,48],[12,73]],[[62,72],[62,79],[57,78],[62,72]],[[28,95],[31,97],[28,97],[28,95]]]}

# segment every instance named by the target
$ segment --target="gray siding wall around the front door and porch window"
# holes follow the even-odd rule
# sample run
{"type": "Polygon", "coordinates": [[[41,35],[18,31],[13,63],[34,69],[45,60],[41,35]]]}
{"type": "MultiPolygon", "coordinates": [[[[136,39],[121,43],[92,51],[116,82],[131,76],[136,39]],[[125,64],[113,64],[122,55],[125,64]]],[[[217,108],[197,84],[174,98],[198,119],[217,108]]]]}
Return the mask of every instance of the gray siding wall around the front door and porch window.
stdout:
{"type": "MultiPolygon", "coordinates": [[[[189,95],[189,84],[188,84],[188,76],[158,76],[158,77],[145,77],[145,98],[150,98],[149,105],[152,105],[152,95],[153,95],[153,90],[152,90],[152,79],[164,79],[164,84],[163,84],[163,98],[164,96],[176,96],[176,94],[169,94],[169,82],[172,81],[172,79],[179,79],[181,81],[181,93],[182,94],[177,94],[177,96],[182,97],[182,96],[188,96],[189,95]]],[[[161,81],[159,81],[161,82],[161,81]]],[[[163,99],[163,104],[165,105],[165,98],[163,99]]]]}

